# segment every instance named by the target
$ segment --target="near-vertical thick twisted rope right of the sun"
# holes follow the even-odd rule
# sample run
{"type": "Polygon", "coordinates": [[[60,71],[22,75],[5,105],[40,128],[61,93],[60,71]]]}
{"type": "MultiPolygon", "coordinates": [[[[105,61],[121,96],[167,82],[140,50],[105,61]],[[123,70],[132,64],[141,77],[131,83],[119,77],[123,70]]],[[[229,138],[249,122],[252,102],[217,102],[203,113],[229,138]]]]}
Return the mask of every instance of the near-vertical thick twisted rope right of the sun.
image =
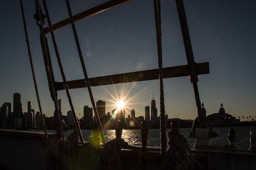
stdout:
{"type": "Polygon", "coordinates": [[[161,159],[166,155],[166,125],[165,125],[165,98],[163,85],[163,61],[162,61],[162,28],[161,28],[161,4],[160,0],[154,0],[155,29],[158,54],[159,82],[160,82],[160,136],[161,159]]]}

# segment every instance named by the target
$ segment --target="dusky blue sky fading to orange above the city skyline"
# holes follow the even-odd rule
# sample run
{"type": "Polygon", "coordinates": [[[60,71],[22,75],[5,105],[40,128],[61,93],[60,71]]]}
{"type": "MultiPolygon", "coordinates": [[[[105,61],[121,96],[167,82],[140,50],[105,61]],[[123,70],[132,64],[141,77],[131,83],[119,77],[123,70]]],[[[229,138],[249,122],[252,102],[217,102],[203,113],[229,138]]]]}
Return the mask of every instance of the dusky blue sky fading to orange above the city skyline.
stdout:
{"type": "MultiPolygon", "coordinates": [[[[70,4],[72,13],[78,14],[104,2],[72,0],[70,4]]],[[[33,18],[35,4],[31,0],[23,0],[23,4],[43,114],[53,116],[40,31],[33,18]]],[[[52,23],[68,18],[64,0],[47,1],[47,5],[52,23]]],[[[185,65],[175,1],[162,0],[161,7],[163,67],[185,65]]],[[[256,2],[184,0],[184,7],[194,60],[210,63],[210,74],[198,76],[206,115],[217,113],[222,103],[232,116],[256,116],[256,2]]],[[[13,93],[17,92],[21,94],[24,112],[27,101],[32,101],[32,107],[39,111],[19,1],[0,1],[0,13],[0,104],[13,104],[13,93]]],[[[75,26],[88,77],[158,68],[153,0],[133,0],[75,22],[75,26]]],[[[84,79],[71,26],[54,33],[66,79],[84,79]]],[[[62,82],[50,34],[47,39],[55,80],[62,82]]],[[[95,101],[106,101],[106,112],[112,114],[116,101],[123,98],[126,115],[134,108],[136,117],[145,116],[145,106],[150,106],[154,94],[160,114],[159,80],[97,86],[92,87],[92,92],[95,101]]],[[[85,105],[92,107],[87,88],[70,89],[70,93],[77,116],[83,114],[85,105]]],[[[164,79],[164,96],[169,118],[196,118],[194,91],[188,76],[164,79]]],[[[66,115],[71,109],[65,90],[58,91],[59,98],[66,115]]]]}

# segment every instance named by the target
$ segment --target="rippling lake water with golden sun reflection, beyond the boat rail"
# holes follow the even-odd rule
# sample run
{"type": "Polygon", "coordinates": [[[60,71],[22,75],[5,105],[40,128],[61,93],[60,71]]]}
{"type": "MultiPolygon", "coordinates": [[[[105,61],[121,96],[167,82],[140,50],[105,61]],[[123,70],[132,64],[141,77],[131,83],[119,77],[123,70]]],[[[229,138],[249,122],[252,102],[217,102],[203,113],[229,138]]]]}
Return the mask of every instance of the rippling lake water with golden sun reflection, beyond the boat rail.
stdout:
{"type": "MultiPolygon", "coordinates": [[[[249,127],[233,127],[236,131],[236,144],[238,149],[248,150],[250,147],[250,131],[256,131],[256,126],[249,127]]],[[[213,131],[218,132],[219,136],[216,139],[210,139],[210,143],[213,144],[224,144],[228,143],[229,128],[213,128],[213,131]]],[[[200,130],[207,130],[200,129],[200,130]]],[[[190,147],[194,147],[195,139],[189,137],[191,128],[182,128],[180,133],[183,134],[188,141],[190,147]]],[[[48,131],[51,132],[51,131],[48,131]]],[[[65,137],[68,137],[73,130],[68,130],[64,133],[65,137]]],[[[92,130],[82,130],[84,141],[89,141],[92,136],[92,130]]],[[[115,138],[115,130],[104,130],[103,131],[105,140],[115,138]]],[[[130,145],[141,145],[140,129],[123,130],[122,138],[130,145]]],[[[159,146],[160,147],[160,129],[149,129],[148,146],[159,146]]]]}

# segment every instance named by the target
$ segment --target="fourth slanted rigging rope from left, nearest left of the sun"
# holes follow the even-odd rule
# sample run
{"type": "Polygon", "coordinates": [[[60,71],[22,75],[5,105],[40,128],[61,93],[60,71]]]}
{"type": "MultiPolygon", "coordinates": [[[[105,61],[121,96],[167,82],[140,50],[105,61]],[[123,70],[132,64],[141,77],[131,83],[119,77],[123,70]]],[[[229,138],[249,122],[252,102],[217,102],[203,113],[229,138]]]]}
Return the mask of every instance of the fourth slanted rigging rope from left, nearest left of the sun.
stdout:
{"type": "MultiPolygon", "coordinates": [[[[87,74],[87,71],[86,71],[85,62],[84,62],[84,59],[83,59],[81,47],[80,47],[80,44],[79,44],[79,40],[78,40],[78,36],[77,36],[77,32],[76,32],[75,23],[74,23],[74,20],[73,20],[73,15],[72,15],[71,7],[70,7],[70,4],[69,4],[69,0],[66,0],[66,5],[67,5],[68,12],[69,12],[70,23],[71,23],[72,30],[73,30],[74,37],[75,37],[76,47],[77,47],[77,50],[78,50],[78,54],[79,54],[79,58],[80,58],[80,61],[81,61],[83,73],[84,73],[84,76],[85,76],[85,83],[86,83],[86,86],[88,88],[89,96],[90,96],[90,99],[91,99],[91,104],[92,104],[92,107],[93,107],[93,110],[94,110],[94,115],[96,117],[96,122],[97,122],[97,125],[98,125],[98,129],[99,129],[100,134],[101,134],[101,140],[102,140],[102,143],[104,145],[105,144],[105,138],[104,138],[104,134],[103,134],[102,127],[101,127],[99,114],[98,114],[98,111],[96,109],[94,98],[93,98],[93,95],[92,95],[91,85],[90,85],[90,81],[89,81],[88,74],[87,74]]],[[[49,28],[50,28],[50,26],[49,26],[49,28]]]]}

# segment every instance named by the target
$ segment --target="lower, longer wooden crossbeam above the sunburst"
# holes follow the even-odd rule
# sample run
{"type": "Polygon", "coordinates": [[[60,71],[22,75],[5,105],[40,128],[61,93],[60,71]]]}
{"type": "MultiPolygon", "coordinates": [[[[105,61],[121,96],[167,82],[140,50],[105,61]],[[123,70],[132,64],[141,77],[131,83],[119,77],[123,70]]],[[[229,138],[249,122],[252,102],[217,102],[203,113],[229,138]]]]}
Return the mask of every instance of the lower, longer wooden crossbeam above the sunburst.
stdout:
{"type": "MultiPolygon", "coordinates": [[[[196,63],[195,66],[197,70],[196,72],[197,75],[209,74],[208,62],[196,63]]],[[[172,78],[172,77],[183,77],[183,76],[189,76],[187,65],[163,68],[164,79],[172,78]]],[[[155,80],[155,79],[159,79],[158,69],[94,77],[94,78],[89,78],[89,81],[91,86],[101,86],[101,85],[139,82],[139,81],[155,80]]],[[[67,83],[68,83],[69,89],[87,87],[85,83],[85,79],[67,81],[67,83]]],[[[63,82],[55,82],[55,89],[57,91],[64,90],[65,88],[64,88],[63,82]]]]}

